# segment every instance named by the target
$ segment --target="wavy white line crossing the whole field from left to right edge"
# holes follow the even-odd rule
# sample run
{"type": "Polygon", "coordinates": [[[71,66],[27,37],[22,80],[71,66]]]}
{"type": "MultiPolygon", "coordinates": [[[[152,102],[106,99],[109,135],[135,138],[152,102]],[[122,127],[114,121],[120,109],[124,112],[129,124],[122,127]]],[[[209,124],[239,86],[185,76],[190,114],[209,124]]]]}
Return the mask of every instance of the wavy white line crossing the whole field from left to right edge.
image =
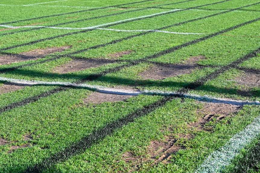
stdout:
{"type": "MultiPolygon", "coordinates": [[[[29,81],[24,79],[12,79],[12,78],[5,78],[5,77],[0,77],[0,81],[10,82],[15,85],[59,85],[59,86],[68,86],[68,87],[80,87],[80,88],[92,89],[97,92],[102,92],[106,94],[120,94],[120,95],[144,94],[144,95],[163,95],[163,96],[178,94],[176,92],[169,92],[169,91],[155,91],[155,90],[133,91],[133,90],[122,90],[116,88],[107,88],[99,85],[75,84],[70,82],[29,81]]],[[[181,95],[182,97],[192,98],[203,102],[226,103],[226,104],[233,104],[238,106],[243,106],[247,104],[260,104],[258,101],[249,102],[243,100],[232,100],[232,99],[215,98],[209,96],[200,96],[197,94],[181,94],[181,95]]]]}

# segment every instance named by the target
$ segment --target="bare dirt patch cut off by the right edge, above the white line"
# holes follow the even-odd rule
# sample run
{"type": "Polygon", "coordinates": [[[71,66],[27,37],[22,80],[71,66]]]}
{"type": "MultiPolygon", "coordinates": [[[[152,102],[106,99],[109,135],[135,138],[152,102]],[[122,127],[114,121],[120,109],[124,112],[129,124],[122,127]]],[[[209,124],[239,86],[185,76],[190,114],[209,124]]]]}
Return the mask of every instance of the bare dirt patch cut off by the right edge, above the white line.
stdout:
{"type": "Polygon", "coordinates": [[[247,87],[260,87],[260,72],[245,72],[242,76],[235,79],[239,85],[247,87]]]}

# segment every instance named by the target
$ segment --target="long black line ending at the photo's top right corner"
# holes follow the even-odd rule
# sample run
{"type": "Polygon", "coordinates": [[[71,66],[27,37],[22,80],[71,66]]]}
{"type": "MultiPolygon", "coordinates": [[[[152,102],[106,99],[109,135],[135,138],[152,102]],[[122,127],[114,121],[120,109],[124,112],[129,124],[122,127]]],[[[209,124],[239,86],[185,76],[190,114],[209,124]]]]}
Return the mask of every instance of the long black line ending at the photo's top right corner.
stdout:
{"type": "MultiPolygon", "coordinates": [[[[260,2],[255,3],[255,4],[251,4],[251,5],[246,5],[246,6],[239,7],[239,8],[235,8],[235,9],[232,9],[232,10],[229,10],[229,11],[224,11],[224,12],[220,12],[220,13],[216,13],[216,14],[211,14],[211,15],[208,15],[208,16],[205,16],[205,17],[199,17],[199,18],[196,18],[196,19],[187,20],[187,21],[180,22],[180,23],[176,23],[176,24],[169,25],[169,26],[164,26],[164,27],[158,28],[158,29],[156,29],[156,30],[167,29],[167,28],[170,28],[170,27],[173,27],[173,26],[179,26],[179,25],[182,25],[182,24],[185,24],[185,23],[189,23],[189,22],[194,22],[194,21],[197,21],[197,20],[206,19],[206,18],[209,18],[209,17],[217,16],[217,15],[219,15],[219,14],[225,14],[225,13],[228,13],[228,12],[231,12],[231,11],[235,11],[235,10],[240,9],[240,8],[245,8],[245,7],[253,6],[253,5],[256,5],[256,4],[260,4],[260,2]]],[[[25,66],[32,66],[32,65],[36,65],[36,64],[40,64],[40,63],[49,62],[49,61],[52,61],[52,60],[59,59],[59,58],[61,58],[61,57],[71,57],[71,55],[74,55],[74,54],[82,53],[82,52],[84,52],[84,51],[89,51],[89,50],[91,50],[91,49],[97,49],[97,48],[105,47],[105,46],[107,46],[107,45],[113,45],[113,44],[116,44],[116,43],[118,43],[118,42],[122,42],[122,41],[124,41],[124,40],[132,39],[132,38],[138,37],[138,36],[143,36],[143,35],[146,35],[146,34],[149,34],[149,33],[152,33],[152,32],[154,32],[154,31],[142,32],[142,33],[140,33],[140,34],[135,34],[135,35],[128,36],[128,37],[125,37],[125,38],[122,38],[122,39],[117,39],[117,40],[114,40],[114,41],[112,41],[112,42],[108,42],[108,43],[105,43],[105,44],[100,44],[100,45],[92,46],[92,47],[90,47],[90,48],[81,49],[81,50],[79,50],[79,51],[75,51],[75,52],[72,52],[72,53],[69,53],[69,54],[57,55],[57,56],[55,56],[55,57],[53,57],[53,58],[50,58],[50,59],[47,59],[47,60],[43,60],[43,61],[40,61],[40,62],[34,62],[34,63],[29,63],[29,64],[25,64],[25,65],[21,65],[21,66],[15,66],[15,67],[9,67],[9,68],[5,68],[5,69],[0,69],[0,73],[5,73],[5,72],[8,72],[8,71],[16,70],[16,69],[18,69],[18,68],[22,68],[22,67],[25,67],[25,66]]],[[[7,54],[8,54],[8,53],[7,53],[7,54]]],[[[12,54],[10,54],[10,55],[12,55],[12,54]]],[[[43,58],[44,58],[44,57],[43,57],[43,58]]]]}

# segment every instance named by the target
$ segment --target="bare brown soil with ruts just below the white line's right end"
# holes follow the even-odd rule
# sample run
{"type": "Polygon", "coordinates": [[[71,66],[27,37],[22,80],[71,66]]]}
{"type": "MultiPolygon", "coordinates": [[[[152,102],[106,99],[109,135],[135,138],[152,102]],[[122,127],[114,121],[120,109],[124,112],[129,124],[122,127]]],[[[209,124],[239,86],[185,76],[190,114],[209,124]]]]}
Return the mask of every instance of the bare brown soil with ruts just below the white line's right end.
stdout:
{"type": "Polygon", "coordinates": [[[205,128],[204,125],[207,122],[210,122],[214,117],[217,121],[227,117],[230,113],[236,112],[241,109],[241,106],[236,106],[232,104],[225,103],[204,103],[204,107],[201,110],[197,111],[197,115],[203,116],[198,122],[189,124],[189,127],[195,127],[198,130],[211,131],[211,128],[205,128]]]}

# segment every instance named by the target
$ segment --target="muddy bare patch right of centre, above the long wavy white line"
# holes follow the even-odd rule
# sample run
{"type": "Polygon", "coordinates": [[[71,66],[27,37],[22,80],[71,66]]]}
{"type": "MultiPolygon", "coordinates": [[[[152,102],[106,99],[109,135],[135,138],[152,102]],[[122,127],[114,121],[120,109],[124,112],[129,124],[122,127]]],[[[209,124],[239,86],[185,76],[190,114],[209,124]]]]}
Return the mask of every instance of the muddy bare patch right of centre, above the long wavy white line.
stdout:
{"type": "Polygon", "coordinates": [[[189,74],[196,68],[201,68],[196,64],[197,61],[204,59],[203,56],[191,57],[189,60],[180,64],[156,64],[151,69],[139,74],[142,79],[163,80],[168,77],[179,76],[182,74],[189,74]]]}

